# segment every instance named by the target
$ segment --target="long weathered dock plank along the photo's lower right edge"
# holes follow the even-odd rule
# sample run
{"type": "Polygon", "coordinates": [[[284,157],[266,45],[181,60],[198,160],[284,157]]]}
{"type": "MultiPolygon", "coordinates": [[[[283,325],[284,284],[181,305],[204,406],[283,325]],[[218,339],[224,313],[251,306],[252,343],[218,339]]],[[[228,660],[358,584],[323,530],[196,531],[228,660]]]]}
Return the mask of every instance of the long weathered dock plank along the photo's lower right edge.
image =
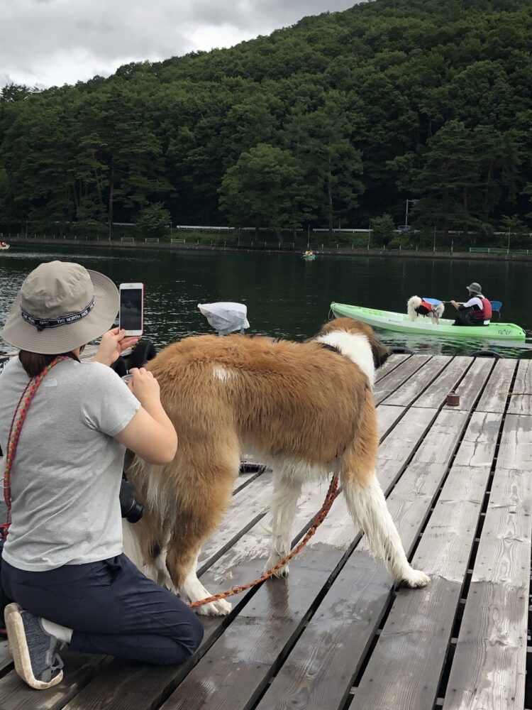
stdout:
{"type": "Polygon", "coordinates": [[[532,480],[521,446],[532,447],[532,417],[507,416],[444,710],[524,706],[532,480]]]}

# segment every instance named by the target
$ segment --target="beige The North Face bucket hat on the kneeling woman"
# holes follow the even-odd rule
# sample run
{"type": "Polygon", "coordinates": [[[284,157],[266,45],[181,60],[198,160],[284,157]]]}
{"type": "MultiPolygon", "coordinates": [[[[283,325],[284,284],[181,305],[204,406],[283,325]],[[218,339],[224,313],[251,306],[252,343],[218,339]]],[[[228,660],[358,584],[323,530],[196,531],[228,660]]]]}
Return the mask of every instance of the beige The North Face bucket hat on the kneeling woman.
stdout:
{"type": "Polygon", "coordinates": [[[0,335],[20,350],[70,352],[109,330],[118,313],[118,289],[81,264],[50,261],[23,281],[0,335]]]}

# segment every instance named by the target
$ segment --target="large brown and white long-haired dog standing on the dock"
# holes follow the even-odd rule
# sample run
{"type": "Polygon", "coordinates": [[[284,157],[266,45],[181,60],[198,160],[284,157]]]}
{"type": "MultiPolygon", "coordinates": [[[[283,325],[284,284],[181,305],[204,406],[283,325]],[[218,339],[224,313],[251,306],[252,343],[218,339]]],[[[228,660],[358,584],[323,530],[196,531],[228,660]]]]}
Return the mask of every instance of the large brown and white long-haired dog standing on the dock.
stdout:
{"type": "MultiPolygon", "coordinates": [[[[305,343],[205,335],[168,346],[147,367],[160,383],[179,447],[170,464],[135,459],[128,471],[145,513],[139,523],[125,524],[126,554],[189,601],[209,596],[196,563],[228,509],[245,450],[275,476],[265,569],[289,552],[301,485],[334,471],[353,518],[392,579],[425,586],[428,577],[406,559],[375,476],[372,386],[388,355],[369,326],[349,318],[329,322],[305,343]]],[[[199,613],[230,609],[217,601],[199,613]]]]}

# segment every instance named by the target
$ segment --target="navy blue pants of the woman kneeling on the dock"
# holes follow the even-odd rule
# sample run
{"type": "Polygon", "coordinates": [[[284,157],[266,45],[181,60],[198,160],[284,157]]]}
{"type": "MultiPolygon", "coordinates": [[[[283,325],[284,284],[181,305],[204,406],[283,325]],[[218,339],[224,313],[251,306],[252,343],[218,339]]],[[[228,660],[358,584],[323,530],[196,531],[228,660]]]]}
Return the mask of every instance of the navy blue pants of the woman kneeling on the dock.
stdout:
{"type": "Polygon", "coordinates": [[[22,608],[72,628],[72,651],[181,663],[203,638],[194,612],[126,555],[50,572],[24,572],[4,559],[1,584],[22,608]]]}

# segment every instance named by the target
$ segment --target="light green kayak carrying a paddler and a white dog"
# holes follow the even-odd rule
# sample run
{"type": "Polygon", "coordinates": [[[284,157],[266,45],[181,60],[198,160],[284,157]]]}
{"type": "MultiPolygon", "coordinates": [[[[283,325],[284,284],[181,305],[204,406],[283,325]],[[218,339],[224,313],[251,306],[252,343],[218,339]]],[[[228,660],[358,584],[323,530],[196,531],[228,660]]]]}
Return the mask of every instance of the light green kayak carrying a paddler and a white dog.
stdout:
{"type": "Polygon", "coordinates": [[[394,330],[397,333],[417,333],[420,335],[436,335],[439,337],[492,339],[492,340],[524,340],[526,333],[514,323],[491,322],[489,325],[456,326],[453,320],[440,318],[438,325],[433,325],[432,320],[419,317],[409,320],[406,313],[377,310],[377,308],[362,308],[350,306],[345,303],[331,303],[331,311],[337,318],[347,316],[361,320],[374,328],[394,330]]]}

